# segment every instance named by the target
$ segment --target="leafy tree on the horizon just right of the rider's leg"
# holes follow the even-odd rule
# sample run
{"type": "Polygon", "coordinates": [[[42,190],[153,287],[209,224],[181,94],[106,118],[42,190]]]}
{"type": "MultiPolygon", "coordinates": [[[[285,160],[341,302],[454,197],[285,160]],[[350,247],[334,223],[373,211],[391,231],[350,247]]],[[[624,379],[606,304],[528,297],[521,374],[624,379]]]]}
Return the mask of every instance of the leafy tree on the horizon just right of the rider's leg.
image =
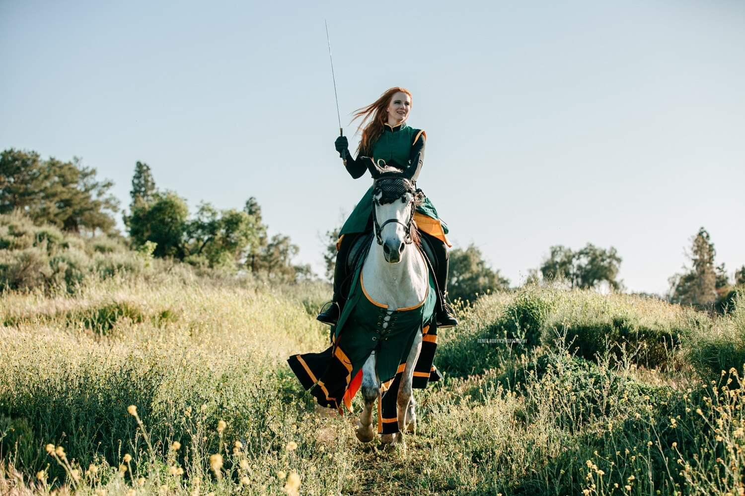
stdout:
{"type": "Polygon", "coordinates": [[[448,295],[453,300],[474,301],[478,294],[509,289],[510,281],[492,270],[475,245],[450,252],[448,295]]]}

